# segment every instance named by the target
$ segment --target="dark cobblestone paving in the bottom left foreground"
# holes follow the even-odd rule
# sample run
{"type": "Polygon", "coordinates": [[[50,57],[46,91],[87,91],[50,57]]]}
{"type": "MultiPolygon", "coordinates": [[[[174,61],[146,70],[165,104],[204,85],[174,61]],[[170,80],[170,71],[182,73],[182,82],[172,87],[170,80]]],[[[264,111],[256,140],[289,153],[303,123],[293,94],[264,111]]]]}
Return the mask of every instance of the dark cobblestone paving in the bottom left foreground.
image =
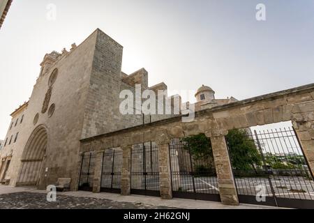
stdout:
{"type": "Polygon", "coordinates": [[[48,202],[45,193],[17,192],[0,194],[0,209],[166,209],[165,206],[151,206],[144,203],[129,203],[57,195],[56,202],[48,202]]]}

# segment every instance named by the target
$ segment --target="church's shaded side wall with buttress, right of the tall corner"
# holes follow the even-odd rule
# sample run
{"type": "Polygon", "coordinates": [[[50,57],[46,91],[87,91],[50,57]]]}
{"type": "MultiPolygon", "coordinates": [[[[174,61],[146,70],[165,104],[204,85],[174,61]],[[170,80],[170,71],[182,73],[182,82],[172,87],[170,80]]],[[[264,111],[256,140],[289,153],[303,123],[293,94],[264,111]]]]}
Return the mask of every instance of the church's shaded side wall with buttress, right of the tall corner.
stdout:
{"type": "MultiPolygon", "coordinates": [[[[121,79],[122,51],[119,43],[98,31],[82,139],[143,124],[142,114],[122,115],[119,111],[121,91],[130,90],[135,95],[135,84],[141,84],[142,91],[148,89],[148,73],[144,68],[121,79]]],[[[144,123],[172,116],[145,115],[144,123]]]]}

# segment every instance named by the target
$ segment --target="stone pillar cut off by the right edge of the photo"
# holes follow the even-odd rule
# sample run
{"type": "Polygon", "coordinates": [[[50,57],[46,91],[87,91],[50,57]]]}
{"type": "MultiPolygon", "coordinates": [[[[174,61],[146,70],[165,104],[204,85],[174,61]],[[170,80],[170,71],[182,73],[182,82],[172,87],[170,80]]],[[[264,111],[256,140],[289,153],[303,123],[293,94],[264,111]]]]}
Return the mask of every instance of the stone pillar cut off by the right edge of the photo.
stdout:
{"type": "Polygon", "coordinates": [[[314,176],[314,121],[306,121],[304,123],[293,121],[292,123],[304,156],[308,161],[308,169],[311,171],[312,176],[314,176]]]}

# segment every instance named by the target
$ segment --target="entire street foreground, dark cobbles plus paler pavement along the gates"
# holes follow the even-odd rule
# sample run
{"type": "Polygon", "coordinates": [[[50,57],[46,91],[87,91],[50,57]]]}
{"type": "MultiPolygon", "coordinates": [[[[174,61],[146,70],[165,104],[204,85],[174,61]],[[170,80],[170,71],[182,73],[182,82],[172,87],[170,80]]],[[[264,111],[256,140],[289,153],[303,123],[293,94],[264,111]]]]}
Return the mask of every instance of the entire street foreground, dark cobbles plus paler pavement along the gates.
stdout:
{"type": "Polygon", "coordinates": [[[47,191],[35,187],[10,187],[0,185],[0,209],[273,209],[269,206],[240,204],[226,206],[220,202],[192,199],[163,200],[131,194],[121,196],[112,193],[84,191],[57,192],[57,201],[48,202],[47,191]]]}

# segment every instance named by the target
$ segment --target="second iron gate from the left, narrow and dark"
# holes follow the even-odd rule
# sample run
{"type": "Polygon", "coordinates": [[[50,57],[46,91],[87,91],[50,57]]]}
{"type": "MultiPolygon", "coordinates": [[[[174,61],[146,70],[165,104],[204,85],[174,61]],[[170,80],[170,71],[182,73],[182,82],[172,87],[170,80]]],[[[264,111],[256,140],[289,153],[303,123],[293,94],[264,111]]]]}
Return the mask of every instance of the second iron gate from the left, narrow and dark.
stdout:
{"type": "Polygon", "coordinates": [[[121,192],[121,149],[107,149],[103,152],[100,192],[121,192]]]}

